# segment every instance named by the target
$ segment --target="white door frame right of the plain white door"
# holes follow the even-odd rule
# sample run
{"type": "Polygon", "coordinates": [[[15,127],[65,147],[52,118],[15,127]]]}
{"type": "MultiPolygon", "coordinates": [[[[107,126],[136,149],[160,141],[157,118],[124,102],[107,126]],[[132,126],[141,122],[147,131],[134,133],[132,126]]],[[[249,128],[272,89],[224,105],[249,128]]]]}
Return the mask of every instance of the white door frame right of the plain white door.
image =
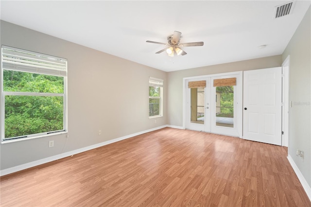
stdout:
{"type": "Polygon", "coordinates": [[[290,55],[282,63],[282,146],[288,147],[289,138],[289,72],[290,55]]]}

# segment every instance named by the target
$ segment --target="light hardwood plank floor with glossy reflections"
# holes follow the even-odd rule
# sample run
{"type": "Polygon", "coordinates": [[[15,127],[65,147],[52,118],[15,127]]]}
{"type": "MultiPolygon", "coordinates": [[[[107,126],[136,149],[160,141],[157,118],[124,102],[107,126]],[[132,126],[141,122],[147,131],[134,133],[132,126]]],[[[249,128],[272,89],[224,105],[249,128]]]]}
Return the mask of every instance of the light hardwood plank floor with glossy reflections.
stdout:
{"type": "Polygon", "coordinates": [[[310,207],[280,146],[164,128],[0,179],[0,206],[310,207]]]}

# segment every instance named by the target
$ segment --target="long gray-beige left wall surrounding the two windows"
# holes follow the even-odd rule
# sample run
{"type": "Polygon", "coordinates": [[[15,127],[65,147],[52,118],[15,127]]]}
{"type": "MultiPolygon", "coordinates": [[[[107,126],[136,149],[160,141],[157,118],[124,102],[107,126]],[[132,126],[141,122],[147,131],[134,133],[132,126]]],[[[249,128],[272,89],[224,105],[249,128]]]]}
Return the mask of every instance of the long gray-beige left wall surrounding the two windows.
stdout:
{"type": "Polygon", "coordinates": [[[1,170],[167,124],[166,72],[5,21],[0,31],[1,45],[68,59],[69,109],[65,147],[67,135],[1,144],[1,170]],[[156,123],[148,118],[149,76],[164,80],[164,116],[156,123]]]}

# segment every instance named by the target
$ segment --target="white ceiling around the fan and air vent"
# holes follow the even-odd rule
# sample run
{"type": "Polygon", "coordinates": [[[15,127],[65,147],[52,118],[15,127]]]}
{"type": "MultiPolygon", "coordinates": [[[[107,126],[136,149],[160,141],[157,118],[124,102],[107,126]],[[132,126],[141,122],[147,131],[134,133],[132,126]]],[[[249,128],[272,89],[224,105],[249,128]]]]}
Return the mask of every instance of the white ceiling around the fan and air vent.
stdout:
{"type": "Polygon", "coordinates": [[[0,18],[155,69],[174,71],[282,54],[311,1],[295,1],[292,14],[275,19],[288,0],[258,1],[12,1],[0,18]],[[173,31],[184,56],[155,54],[173,31]],[[267,45],[260,49],[260,45],[267,45]]]}

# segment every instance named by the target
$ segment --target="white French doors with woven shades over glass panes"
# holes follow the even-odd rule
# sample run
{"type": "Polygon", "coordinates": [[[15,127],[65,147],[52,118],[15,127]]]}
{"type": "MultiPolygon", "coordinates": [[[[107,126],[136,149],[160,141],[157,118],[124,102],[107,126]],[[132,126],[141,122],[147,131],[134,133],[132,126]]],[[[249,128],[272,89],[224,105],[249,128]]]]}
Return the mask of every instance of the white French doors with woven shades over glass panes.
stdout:
{"type": "Polygon", "coordinates": [[[189,78],[185,90],[186,129],[242,138],[242,72],[189,78]],[[229,79],[234,85],[215,85],[229,79]]]}

